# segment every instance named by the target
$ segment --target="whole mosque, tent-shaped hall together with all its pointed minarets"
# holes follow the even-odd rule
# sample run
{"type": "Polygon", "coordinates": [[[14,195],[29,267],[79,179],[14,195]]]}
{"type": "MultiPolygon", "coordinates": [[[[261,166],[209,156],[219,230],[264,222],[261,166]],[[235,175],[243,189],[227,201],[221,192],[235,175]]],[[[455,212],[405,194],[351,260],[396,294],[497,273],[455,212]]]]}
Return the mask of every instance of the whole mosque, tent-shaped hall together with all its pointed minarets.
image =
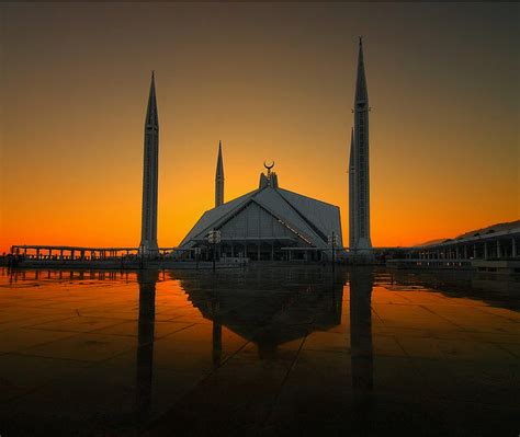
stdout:
{"type": "MultiPolygon", "coordinates": [[[[360,38],[349,162],[349,252],[372,253],[369,189],[369,99],[360,38]]],[[[159,122],[154,78],[145,123],[142,253],[157,253],[159,122]]],[[[346,153],[347,156],[347,153],[346,153]]],[[[258,188],[224,202],[224,160],[218,146],[215,206],[188,232],[173,256],[178,260],[249,258],[250,261],[331,261],[342,257],[340,208],[282,188],[272,164],[264,163],[258,188]],[[218,234],[218,244],[212,237],[218,234]]],[[[346,165],[347,166],[347,165],[346,165]]]]}

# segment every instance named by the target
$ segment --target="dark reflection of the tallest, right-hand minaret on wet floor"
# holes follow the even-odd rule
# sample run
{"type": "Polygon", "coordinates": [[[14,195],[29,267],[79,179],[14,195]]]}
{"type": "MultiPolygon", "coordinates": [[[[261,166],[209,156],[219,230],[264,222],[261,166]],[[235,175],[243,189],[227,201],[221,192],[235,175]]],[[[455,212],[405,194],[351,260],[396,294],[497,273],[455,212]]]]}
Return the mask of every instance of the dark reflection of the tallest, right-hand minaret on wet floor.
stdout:
{"type": "Polygon", "coordinates": [[[350,347],[352,390],[359,434],[366,434],[370,424],[373,387],[372,285],[370,267],[355,267],[350,275],[350,347]]]}

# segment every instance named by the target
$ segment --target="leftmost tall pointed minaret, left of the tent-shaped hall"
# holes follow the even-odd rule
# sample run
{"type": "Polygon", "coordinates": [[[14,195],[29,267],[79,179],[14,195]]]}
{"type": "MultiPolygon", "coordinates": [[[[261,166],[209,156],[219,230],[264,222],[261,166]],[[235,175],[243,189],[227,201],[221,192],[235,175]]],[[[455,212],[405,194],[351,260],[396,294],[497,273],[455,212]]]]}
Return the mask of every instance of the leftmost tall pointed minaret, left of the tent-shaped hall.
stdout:
{"type": "Polygon", "coordinates": [[[158,252],[157,245],[157,192],[159,173],[159,118],[157,114],[156,84],[151,72],[150,94],[145,119],[145,157],[143,163],[143,218],[140,225],[142,254],[158,252]]]}

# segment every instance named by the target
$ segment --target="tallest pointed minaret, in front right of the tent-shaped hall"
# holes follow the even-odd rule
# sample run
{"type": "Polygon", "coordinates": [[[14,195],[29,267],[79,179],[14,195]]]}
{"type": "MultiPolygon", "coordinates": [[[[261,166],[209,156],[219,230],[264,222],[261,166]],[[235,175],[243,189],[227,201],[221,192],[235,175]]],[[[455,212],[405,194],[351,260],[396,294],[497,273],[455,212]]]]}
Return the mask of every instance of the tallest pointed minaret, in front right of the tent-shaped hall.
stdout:
{"type": "MultiPolygon", "coordinates": [[[[354,97],[353,138],[353,220],[354,254],[372,252],[370,239],[370,173],[369,173],[369,93],[364,73],[363,43],[360,37],[358,79],[354,97]]],[[[351,169],[352,171],[352,169],[351,169]]],[[[351,217],[352,220],[353,217],[351,217]]]]}

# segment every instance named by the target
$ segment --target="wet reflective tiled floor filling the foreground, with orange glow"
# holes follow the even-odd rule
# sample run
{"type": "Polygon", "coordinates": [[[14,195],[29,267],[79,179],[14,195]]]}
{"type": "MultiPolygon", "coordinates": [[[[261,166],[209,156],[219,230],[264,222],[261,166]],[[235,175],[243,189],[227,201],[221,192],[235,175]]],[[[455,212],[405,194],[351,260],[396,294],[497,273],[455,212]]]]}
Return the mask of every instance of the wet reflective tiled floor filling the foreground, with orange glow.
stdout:
{"type": "Polygon", "coordinates": [[[519,291],[366,267],[2,271],[0,434],[517,436],[519,291]]]}

